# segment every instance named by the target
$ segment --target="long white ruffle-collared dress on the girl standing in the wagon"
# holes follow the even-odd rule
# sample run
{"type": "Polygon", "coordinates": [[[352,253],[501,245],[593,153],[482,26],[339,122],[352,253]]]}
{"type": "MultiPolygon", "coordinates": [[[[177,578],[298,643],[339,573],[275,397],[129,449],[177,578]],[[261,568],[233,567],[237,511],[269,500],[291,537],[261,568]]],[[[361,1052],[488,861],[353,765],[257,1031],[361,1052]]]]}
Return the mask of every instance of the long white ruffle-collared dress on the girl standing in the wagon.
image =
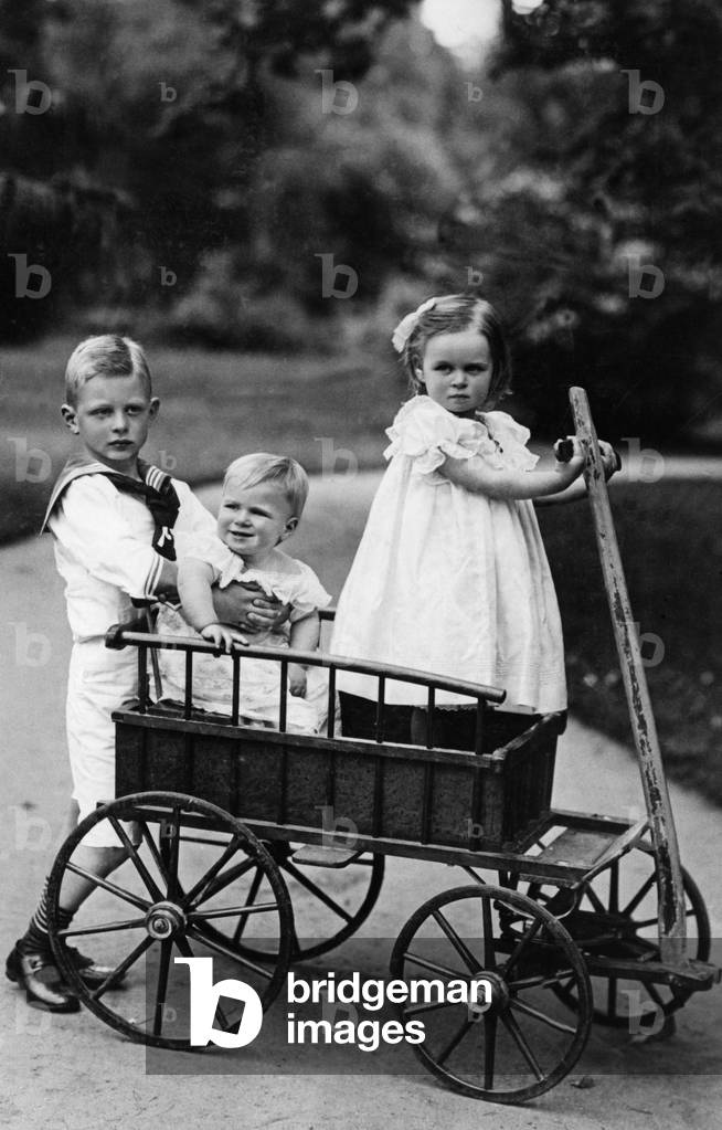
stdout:
{"type": "MultiPolygon", "coordinates": [[[[533,505],[473,494],[438,470],[447,455],[531,470],[529,431],[506,412],[466,419],[429,397],[388,429],[390,466],[339,599],[331,651],[470,679],[506,690],[505,710],[564,710],[562,623],[533,505]]],[[[376,697],[376,680],[338,673],[337,687],[376,697]]],[[[389,681],[389,703],[427,692],[389,681]]],[[[438,692],[437,705],[471,705],[438,692]]]]}

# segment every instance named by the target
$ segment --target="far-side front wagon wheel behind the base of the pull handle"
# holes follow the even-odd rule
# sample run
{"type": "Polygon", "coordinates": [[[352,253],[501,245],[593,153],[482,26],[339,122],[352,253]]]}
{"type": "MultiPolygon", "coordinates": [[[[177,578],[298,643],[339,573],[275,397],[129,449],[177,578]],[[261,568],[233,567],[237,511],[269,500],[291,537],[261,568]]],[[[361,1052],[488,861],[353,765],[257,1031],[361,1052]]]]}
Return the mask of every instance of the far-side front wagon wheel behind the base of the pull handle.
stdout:
{"type": "MultiPolygon", "coordinates": [[[[592,971],[594,1019],[634,1033],[659,1031],[663,1018],[671,1016],[689,999],[689,990],[670,989],[594,974],[594,957],[633,958],[640,963],[659,960],[656,925],[656,881],[654,854],[649,843],[637,845],[621,859],[584,884],[576,904],[564,916],[564,924],[580,949],[588,955],[592,971]]],[[[690,875],[682,869],[685,914],[687,918],[687,955],[706,962],[710,956],[710,919],[690,875]]],[[[555,909],[559,895],[555,887],[532,884],[527,894],[542,905],[555,909]]],[[[575,986],[555,988],[560,1000],[577,1008],[575,986]]]]}

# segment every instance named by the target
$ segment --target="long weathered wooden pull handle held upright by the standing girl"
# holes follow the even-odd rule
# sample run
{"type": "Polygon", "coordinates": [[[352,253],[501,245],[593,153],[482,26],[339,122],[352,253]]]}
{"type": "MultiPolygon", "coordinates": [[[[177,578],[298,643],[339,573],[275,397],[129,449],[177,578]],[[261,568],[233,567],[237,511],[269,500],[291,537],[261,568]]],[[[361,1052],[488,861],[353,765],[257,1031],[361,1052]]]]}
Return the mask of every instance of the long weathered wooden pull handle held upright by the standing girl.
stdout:
{"type": "Polygon", "coordinates": [[[632,733],[640,760],[642,788],[654,847],[659,890],[660,954],[663,962],[684,966],[688,963],[685,956],[685,895],[679,845],[642,661],[642,650],[615,533],[599,442],[584,389],[569,389],[569,403],[574,414],[576,435],[584,451],[584,480],[592,506],[599,559],[611,612],[619,667],[627,697],[632,733]]]}

